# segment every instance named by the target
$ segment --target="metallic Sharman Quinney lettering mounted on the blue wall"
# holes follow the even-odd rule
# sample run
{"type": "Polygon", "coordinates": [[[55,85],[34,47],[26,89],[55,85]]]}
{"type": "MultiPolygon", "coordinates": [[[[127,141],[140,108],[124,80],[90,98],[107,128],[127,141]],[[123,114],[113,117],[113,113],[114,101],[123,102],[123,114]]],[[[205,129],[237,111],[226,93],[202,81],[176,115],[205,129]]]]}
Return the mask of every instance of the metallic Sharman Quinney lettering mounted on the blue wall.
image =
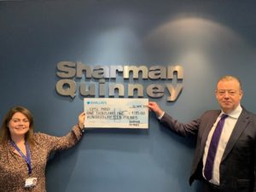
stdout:
{"type": "Polygon", "coordinates": [[[61,96],[86,97],[149,97],[166,95],[174,102],[183,90],[183,67],[174,66],[88,66],[77,61],[57,63],[56,91],[61,96]],[[139,81],[140,80],[140,81],[139,81]],[[148,81],[150,80],[150,82],[148,81]],[[143,81],[143,84],[139,82],[143,81]],[[148,84],[154,83],[154,84],[148,84]],[[156,84],[159,83],[159,84],[156,84]],[[147,84],[147,85],[145,85],[147,84]]]}

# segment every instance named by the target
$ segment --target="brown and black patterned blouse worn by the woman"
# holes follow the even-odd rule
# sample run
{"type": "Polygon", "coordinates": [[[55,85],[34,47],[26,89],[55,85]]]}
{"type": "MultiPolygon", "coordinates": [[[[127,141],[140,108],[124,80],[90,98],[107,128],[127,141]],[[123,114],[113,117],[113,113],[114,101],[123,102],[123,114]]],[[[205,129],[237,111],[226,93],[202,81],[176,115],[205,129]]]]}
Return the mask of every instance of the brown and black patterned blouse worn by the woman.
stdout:
{"type": "Polygon", "coordinates": [[[32,175],[37,177],[37,184],[25,188],[28,178],[26,161],[16,154],[11,143],[0,145],[0,192],[46,192],[45,166],[50,152],[71,148],[82,137],[78,125],[65,137],[52,137],[44,133],[34,133],[35,145],[30,148],[32,161],[32,175]]]}

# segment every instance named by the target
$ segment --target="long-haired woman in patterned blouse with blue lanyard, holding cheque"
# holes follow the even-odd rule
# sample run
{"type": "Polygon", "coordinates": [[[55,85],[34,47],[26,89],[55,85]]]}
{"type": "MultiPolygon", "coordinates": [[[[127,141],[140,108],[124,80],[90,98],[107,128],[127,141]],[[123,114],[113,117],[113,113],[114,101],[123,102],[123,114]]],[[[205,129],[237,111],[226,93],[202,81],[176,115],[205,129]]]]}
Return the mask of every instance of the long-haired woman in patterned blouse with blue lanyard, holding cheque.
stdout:
{"type": "Polygon", "coordinates": [[[9,110],[0,130],[0,191],[45,192],[45,166],[50,152],[72,147],[84,132],[84,113],[65,137],[34,133],[32,113],[23,107],[9,110]]]}

